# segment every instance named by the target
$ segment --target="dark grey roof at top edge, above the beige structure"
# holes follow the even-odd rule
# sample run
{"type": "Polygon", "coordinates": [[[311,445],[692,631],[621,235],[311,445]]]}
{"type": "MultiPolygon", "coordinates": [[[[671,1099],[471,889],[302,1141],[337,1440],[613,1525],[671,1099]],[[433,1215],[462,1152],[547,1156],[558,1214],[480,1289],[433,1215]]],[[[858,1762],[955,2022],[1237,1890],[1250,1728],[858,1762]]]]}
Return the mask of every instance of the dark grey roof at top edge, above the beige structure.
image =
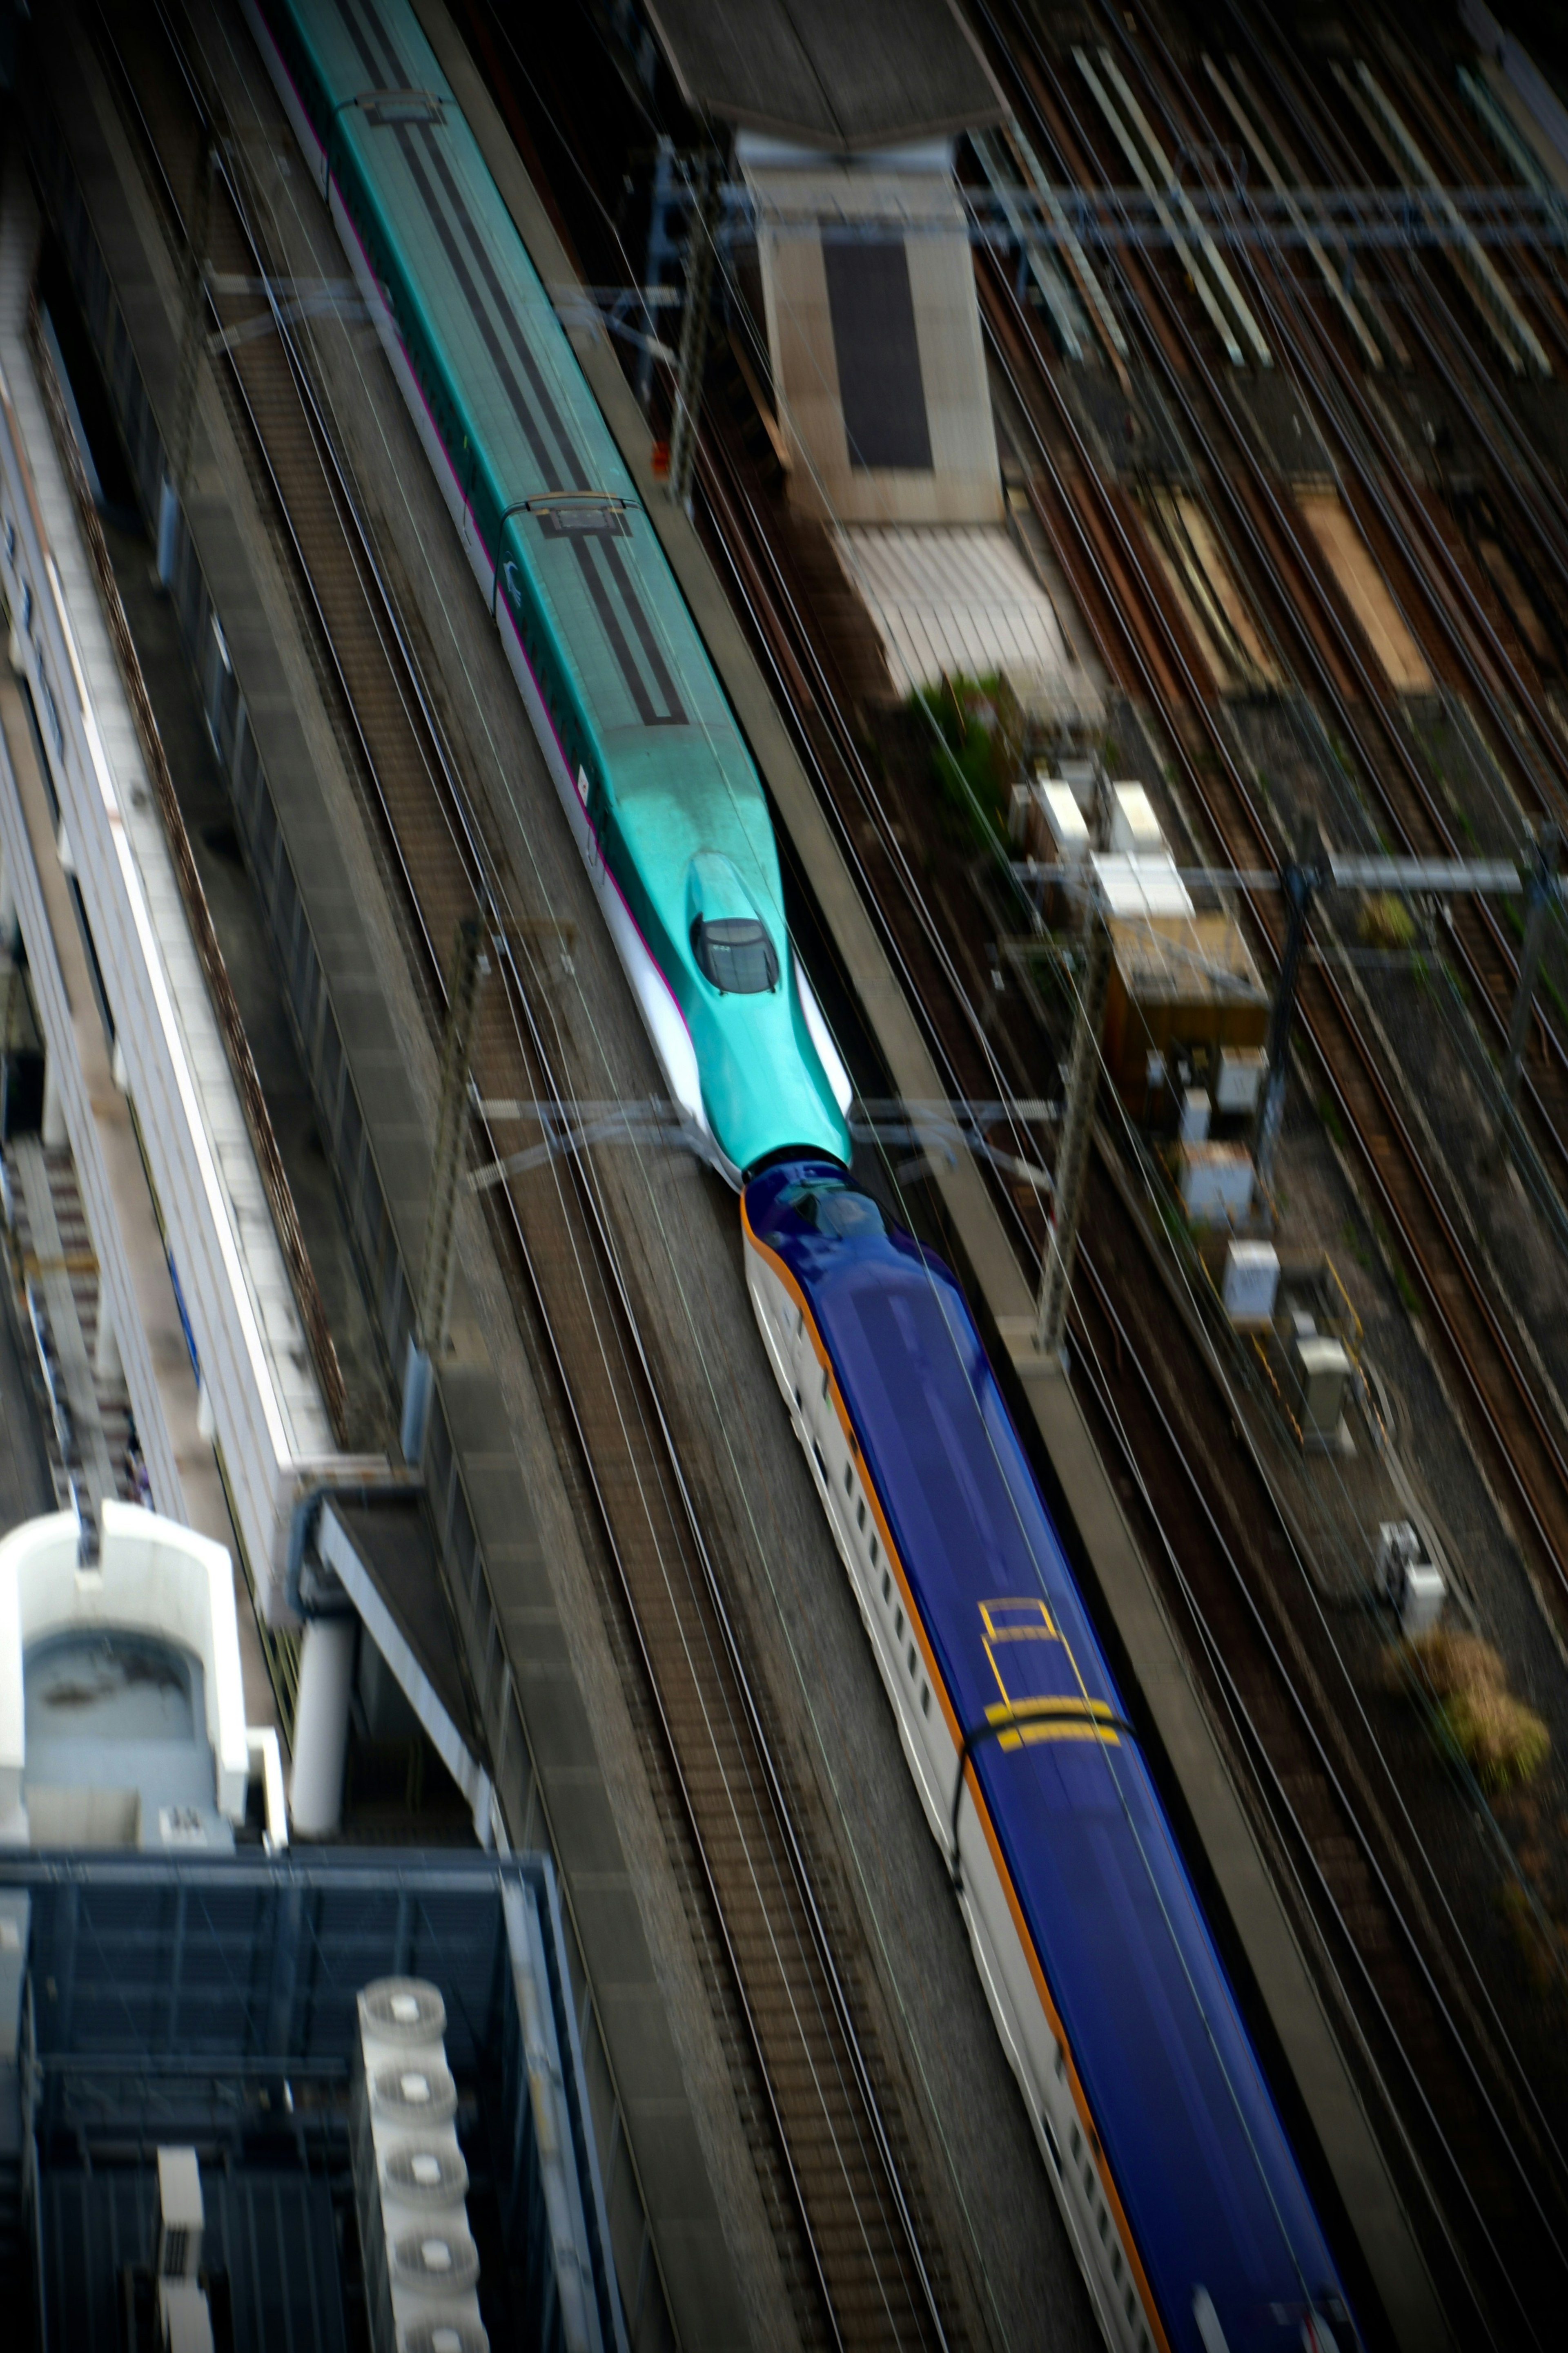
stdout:
{"type": "Polygon", "coordinates": [[[693,113],[827,153],[997,122],[980,52],[947,0],[646,0],[693,113]]]}

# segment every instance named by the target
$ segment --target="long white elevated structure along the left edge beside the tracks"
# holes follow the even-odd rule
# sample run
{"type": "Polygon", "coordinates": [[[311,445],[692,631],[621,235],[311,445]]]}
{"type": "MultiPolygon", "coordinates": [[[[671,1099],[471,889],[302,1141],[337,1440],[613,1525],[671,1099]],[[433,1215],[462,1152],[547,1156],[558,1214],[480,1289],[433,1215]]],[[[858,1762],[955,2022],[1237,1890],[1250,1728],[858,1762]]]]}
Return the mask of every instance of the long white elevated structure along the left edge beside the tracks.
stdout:
{"type": "Polygon", "coordinates": [[[12,172],[0,224],[0,586],[38,736],[14,725],[16,706],[0,711],[0,856],[153,1499],[212,1537],[233,1515],[259,1605],[275,1614],[294,1499],[343,1457],[28,351],[33,252],[35,214],[12,172]],[[181,1426],[181,1325],[200,1384],[183,1419],[195,1426],[181,1426]]]}

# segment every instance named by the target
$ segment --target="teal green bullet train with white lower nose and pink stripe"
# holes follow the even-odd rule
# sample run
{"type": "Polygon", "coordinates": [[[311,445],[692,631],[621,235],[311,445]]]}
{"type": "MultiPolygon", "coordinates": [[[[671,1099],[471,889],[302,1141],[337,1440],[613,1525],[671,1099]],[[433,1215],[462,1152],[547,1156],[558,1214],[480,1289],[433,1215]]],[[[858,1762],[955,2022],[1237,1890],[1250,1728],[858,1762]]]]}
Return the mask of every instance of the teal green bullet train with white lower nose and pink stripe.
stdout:
{"type": "Polygon", "coordinates": [[[741,1181],[849,1162],[762,784],[404,0],[242,0],[461,532],[670,1094],[741,1181]]]}

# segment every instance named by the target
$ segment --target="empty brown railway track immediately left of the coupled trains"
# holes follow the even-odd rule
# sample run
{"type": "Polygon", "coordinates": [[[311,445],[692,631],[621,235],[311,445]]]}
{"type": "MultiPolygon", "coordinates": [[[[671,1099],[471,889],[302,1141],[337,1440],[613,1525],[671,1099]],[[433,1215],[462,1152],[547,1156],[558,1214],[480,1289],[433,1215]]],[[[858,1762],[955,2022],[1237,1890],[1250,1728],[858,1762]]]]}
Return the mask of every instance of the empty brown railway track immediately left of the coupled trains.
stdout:
{"type": "MultiPolygon", "coordinates": [[[[155,35],[125,26],[115,35],[115,64],[179,228],[176,191],[190,184],[197,153],[195,108],[172,61],[155,52],[155,35]]],[[[256,273],[240,191],[228,181],[214,193],[209,242],[216,273],[256,273]]],[[[214,313],[219,327],[240,322],[221,294],[214,313]]],[[[515,880],[482,842],[447,760],[292,336],[280,327],[247,339],[228,362],[381,800],[425,988],[440,995],[454,925],[475,899],[489,899],[505,925],[515,880]]],[[[487,991],[473,1068],[484,1096],[562,1101],[515,948],[503,948],[501,986],[487,991]]],[[[487,1158],[498,1158],[494,1141],[487,1158]]],[[[799,2207],[804,2261],[797,2252],[795,2268],[811,2280],[818,2306],[806,2320],[853,2344],[940,2344],[938,2285],[898,2179],[896,2113],[891,2125],[882,2113],[884,2071],[875,2049],[860,2047],[863,2028],[679,1473],[592,1172],[574,1160],[559,1181],[557,1167],[541,1167],[515,1176],[503,1198],[799,2207]]]]}

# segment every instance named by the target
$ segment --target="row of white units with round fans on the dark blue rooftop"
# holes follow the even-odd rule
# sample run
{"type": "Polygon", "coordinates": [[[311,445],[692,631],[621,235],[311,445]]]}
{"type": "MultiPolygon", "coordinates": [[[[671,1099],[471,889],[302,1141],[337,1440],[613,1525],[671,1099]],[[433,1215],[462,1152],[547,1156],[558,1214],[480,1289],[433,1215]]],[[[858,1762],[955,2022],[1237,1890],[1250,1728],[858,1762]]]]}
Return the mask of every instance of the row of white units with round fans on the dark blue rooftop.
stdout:
{"type": "Polygon", "coordinates": [[[374,2353],[487,2353],[442,1995],[386,1977],[360,1993],[357,2024],[350,2134],[374,2353]]]}

